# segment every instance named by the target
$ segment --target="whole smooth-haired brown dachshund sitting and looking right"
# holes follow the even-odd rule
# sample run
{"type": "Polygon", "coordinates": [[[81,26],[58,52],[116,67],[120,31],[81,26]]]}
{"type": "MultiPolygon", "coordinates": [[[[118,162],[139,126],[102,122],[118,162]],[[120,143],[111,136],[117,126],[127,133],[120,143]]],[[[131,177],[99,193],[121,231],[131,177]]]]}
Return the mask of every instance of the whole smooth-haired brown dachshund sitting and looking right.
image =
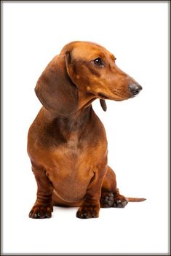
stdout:
{"type": "Polygon", "coordinates": [[[100,207],[124,207],[108,166],[106,131],[92,109],[100,99],[123,101],[142,87],[92,42],[71,42],[47,65],[36,84],[43,105],[28,131],[28,155],[37,182],[29,217],[49,218],[53,206],[79,206],[76,217],[98,217],[100,207]]]}

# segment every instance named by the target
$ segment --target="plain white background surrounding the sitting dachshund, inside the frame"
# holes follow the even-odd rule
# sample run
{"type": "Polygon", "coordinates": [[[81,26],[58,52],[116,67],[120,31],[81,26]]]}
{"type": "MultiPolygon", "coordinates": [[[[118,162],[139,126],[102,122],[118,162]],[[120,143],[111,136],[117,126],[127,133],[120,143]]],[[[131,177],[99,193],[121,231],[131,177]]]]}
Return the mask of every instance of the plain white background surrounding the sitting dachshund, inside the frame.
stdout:
{"type": "Polygon", "coordinates": [[[168,3],[3,4],[3,253],[168,252],[168,3]],[[95,112],[108,136],[108,162],[125,196],[147,198],[101,209],[92,220],[55,207],[28,213],[36,182],[27,133],[41,107],[34,93],[47,63],[73,40],[102,44],[143,91],[95,112]]]}

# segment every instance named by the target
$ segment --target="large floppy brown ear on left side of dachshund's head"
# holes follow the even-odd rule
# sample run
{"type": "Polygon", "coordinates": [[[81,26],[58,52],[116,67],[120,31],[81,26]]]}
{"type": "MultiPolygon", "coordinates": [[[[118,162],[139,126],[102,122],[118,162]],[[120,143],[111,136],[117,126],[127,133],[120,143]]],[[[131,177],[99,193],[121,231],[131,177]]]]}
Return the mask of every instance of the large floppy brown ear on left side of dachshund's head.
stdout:
{"type": "Polygon", "coordinates": [[[68,75],[65,55],[52,59],[39,77],[35,92],[41,104],[59,116],[69,117],[76,112],[78,90],[68,75]]]}

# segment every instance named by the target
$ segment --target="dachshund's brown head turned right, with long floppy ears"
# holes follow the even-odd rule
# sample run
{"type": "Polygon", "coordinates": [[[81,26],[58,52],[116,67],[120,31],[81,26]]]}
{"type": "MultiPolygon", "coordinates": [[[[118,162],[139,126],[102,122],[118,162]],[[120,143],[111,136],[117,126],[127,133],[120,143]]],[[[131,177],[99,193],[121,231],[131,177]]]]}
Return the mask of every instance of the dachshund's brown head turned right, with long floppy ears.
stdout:
{"type": "Polygon", "coordinates": [[[90,105],[95,98],[106,111],[106,99],[123,101],[142,90],[115,61],[115,56],[99,44],[66,44],[41,74],[36,95],[47,109],[63,117],[90,105]]]}

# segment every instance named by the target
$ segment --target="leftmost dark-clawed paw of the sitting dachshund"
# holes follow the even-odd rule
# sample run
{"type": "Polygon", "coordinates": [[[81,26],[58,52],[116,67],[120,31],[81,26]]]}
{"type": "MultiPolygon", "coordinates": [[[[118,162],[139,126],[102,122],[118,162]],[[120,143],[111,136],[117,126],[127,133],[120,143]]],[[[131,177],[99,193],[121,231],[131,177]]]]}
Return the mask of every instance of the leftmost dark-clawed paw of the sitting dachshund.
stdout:
{"type": "Polygon", "coordinates": [[[29,217],[33,219],[45,219],[52,216],[52,206],[33,206],[29,217]]]}

